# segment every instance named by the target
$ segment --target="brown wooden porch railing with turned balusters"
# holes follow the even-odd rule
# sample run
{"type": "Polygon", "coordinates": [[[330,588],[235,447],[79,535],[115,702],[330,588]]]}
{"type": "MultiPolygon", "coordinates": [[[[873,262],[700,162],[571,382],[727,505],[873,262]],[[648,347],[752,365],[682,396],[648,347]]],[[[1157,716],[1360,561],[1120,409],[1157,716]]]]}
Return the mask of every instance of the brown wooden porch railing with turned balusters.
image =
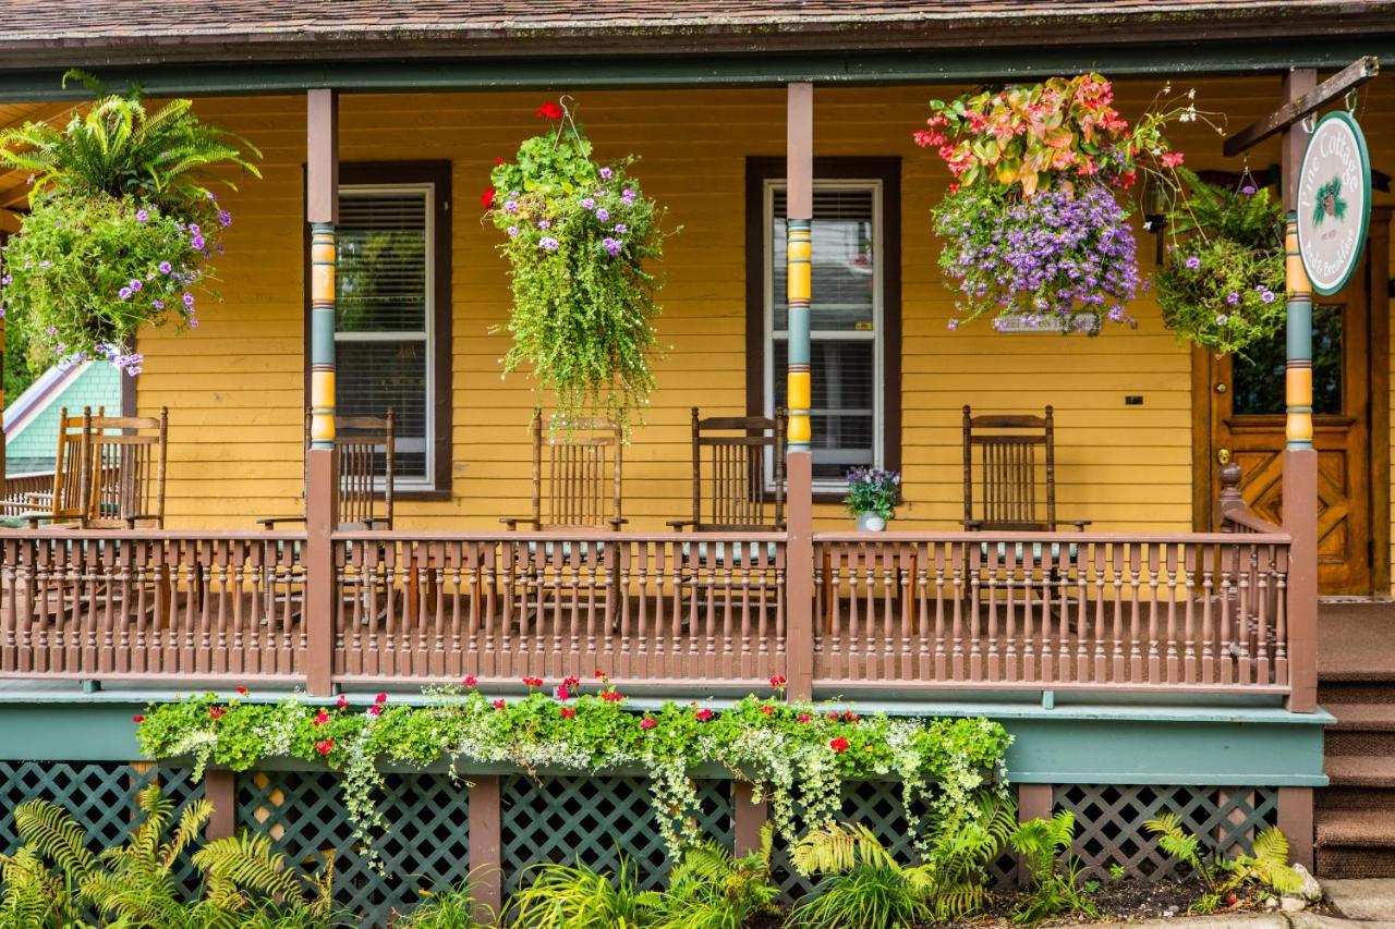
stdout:
{"type": "Polygon", "coordinates": [[[815,533],[792,598],[797,538],[338,531],[312,594],[303,533],[3,530],[0,677],[1288,693],[1311,660],[1282,533],[815,533]]]}

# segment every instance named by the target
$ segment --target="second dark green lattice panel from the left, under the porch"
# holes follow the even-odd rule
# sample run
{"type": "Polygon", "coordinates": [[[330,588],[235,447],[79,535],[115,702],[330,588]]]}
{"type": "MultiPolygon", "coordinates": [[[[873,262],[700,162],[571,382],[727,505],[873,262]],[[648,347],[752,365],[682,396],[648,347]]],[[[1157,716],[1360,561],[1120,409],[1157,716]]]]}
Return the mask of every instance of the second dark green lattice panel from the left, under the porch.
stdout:
{"type": "Polygon", "coordinates": [[[339,778],[328,771],[255,771],[237,777],[237,822],[269,834],[307,873],[335,859],[335,897],[357,925],[385,925],[470,872],[469,788],[445,774],[389,774],[378,809],[384,873],[353,841],[339,778]]]}

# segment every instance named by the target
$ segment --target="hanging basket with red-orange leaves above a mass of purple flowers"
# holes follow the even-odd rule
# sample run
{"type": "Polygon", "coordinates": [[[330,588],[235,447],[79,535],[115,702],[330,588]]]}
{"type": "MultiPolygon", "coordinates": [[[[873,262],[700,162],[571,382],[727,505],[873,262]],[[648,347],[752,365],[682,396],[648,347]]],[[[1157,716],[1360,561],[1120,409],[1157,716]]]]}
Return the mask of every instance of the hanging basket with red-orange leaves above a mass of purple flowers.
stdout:
{"type": "Polygon", "coordinates": [[[1191,95],[1172,102],[1169,93],[1133,127],[1099,74],[930,100],[928,128],[914,138],[935,146],[954,177],[932,212],[963,314],[951,329],[979,317],[999,329],[1063,333],[1134,325],[1127,304],[1143,282],[1117,194],[1140,172],[1170,176],[1183,155],[1163,127],[1204,117],[1191,95]]]}

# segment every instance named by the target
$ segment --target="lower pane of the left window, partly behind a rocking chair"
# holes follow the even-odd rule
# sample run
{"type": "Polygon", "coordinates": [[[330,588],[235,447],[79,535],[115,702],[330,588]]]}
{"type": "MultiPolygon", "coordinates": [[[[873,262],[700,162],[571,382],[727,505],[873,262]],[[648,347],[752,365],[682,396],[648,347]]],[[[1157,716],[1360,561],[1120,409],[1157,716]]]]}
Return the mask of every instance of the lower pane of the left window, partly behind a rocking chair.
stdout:
{"type": "Polygon", "coordinates": [[[386,416],[393,409],[398,480],[427,471],[425,342],[340,342],[336,402],[342,416],[386,416]]]}

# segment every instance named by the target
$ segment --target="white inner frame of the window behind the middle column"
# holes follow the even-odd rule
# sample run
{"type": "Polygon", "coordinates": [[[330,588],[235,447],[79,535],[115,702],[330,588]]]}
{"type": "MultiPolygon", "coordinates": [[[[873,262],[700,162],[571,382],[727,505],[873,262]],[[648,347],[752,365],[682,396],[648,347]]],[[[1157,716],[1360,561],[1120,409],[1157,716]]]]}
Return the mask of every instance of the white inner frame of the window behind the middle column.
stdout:
{"type": "MultiPolygon", "coordinates": [[[[883,305],[884,305],[884,289],[886,289],[886,271],[882,265],[883,261],[883,244],[886,236],[886,213],[882,209],[882,194],[883,183],[880,179],[838,179],[838,180],[819,180],[813,181],[813,191],[870,191],[872,192],[872,331],[844,331],[844,329],[810,329],[809,342],[819,340],[836,340],[836,342],[870,342],[872,343],[872,466],[884,467],[886,466],[886,378],[883,375],[883,358],[886,353],[886,346],[882,342],[883,338],[883,305]]],[[[767,417],[774,416],[776,406],[776,378],[785,377],[785,371],[774,370],[774,343],[776,339],[788,339],[788,331],[776,332],[774,329],[774,204],[776,192],[785,191],[787,183],[777,179],[766,179],[764,190],[762,191],[762,215],[764,227],[764,308],[763,308],[763,333],[762,333],[762,358],[763,358],[763,381],[764,381],[764,414],[767,417]]],[[[817,297],[817,294],[815,294],[817,297]]],[[[788,352],[785,354],[788,357],[788,352]]],[[[824,410],[813,409],[810,414],[824,413],[824,410]]],[[[815,446],[815,453],[817,453],[817,445],[815,446]]],[[[767,455],[773,455],[767,453],[767,455]]],[[[773,460],[767,462],[767,474],[774,474],[773,460]]],[[[851,466],[851,463],[850,463],[851,466]]],[[[844,481],[838,480],[815,480],[815,492],[841,492],[845,490],[844,481]]]]}

